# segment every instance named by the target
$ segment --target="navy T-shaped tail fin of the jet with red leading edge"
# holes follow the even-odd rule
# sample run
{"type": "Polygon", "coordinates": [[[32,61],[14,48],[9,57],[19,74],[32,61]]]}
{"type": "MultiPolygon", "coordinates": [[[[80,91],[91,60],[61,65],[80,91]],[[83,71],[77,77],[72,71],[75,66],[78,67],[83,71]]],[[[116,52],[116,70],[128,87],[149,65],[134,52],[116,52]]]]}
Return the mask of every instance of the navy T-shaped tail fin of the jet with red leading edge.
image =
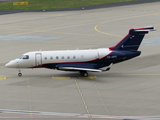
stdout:
{"type": "Polygon", "coordinates": [[[124,37],[117,45],[110,47],[110,50],[137,51],[145,34],[154,31],[154,27],[145,27],[130,29],[128,35],[124,37]]]}

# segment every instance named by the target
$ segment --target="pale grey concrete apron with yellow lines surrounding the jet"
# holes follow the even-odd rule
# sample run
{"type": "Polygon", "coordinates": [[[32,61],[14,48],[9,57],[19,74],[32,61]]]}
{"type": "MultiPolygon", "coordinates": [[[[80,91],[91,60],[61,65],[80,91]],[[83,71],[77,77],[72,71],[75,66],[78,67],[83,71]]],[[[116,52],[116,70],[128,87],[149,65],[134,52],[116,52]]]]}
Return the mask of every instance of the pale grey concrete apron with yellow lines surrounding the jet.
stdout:
{"type": "Polygon", "coordinates": [[[22,120],[160,119],[160,2],[73,11],[0,15],[0,118],[22,120]],[[131,28],[154,26],[141,56],[109,72],[18,70],[5,64],[39,50],[105,48],[131,28]],[[28,40],[30,39],[30,40],[28,40]]]}

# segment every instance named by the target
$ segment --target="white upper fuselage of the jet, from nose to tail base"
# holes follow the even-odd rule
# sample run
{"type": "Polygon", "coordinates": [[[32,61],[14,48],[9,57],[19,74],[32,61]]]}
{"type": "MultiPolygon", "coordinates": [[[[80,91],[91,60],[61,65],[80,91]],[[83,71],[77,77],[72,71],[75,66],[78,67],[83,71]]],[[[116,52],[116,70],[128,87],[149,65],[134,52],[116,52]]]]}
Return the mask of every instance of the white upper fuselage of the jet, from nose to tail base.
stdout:
{"type": "Polygon", "coordinates": [[[45,64],[89,62],[101,59],[112,51],[108,48],[66,51],[34,51],[6,64],[9,68],[33,68],[45,64]]]}

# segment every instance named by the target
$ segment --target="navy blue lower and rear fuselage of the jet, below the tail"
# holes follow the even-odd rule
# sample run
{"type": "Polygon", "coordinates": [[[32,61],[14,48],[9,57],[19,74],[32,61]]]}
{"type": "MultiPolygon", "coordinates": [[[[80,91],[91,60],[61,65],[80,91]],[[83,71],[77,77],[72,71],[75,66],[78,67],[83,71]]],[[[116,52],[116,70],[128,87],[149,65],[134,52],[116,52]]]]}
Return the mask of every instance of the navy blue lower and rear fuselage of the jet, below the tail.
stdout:
{"type": "Polygon", "coordinates": [[[59,67],[77,67],[77,68],[90,68],[98,69],[102,67],[109,66],[111,63],[119,63],[131,58],[137,57],[141,54],[140,51],[113,51],[111,54],[103,57],[102,59],[95,59],[93,61],[87,62],[71,62],[71,63],[48,63],[44,64],[41,67],[49,69],[58,69],[59,67]]]}

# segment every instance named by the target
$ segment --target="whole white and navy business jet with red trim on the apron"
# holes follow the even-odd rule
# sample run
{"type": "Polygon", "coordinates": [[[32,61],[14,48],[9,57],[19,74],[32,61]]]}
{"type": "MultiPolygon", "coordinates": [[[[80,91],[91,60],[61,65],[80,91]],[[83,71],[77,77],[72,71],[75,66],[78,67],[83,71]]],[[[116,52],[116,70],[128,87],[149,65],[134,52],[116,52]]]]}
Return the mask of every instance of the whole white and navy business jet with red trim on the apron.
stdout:
{"type": "Polygon", "coordinates": [[[17,68],[19,77],[22,68],[79,71],[80,76],[87,77],[88,72],[109,71],[112,64],[139,56],[138,48],[149,31],[154,31],[154,27],[130,29],[118,44],[109,48],[27,52],[5,66],[17,68]]]}

